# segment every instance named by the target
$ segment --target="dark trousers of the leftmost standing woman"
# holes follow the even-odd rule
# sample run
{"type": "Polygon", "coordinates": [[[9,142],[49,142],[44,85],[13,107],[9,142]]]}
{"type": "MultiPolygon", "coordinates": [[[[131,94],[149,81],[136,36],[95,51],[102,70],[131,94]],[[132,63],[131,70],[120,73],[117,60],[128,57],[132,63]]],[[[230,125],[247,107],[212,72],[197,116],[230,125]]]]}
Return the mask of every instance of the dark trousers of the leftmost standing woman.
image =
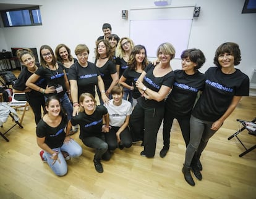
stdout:
{"type": "Polygon", "coordinates": [[[45,97],[28,97],[27,100],[35,115],[35,123],[38,124],[42,117],[41,108],[45,109],[45,97]]]}

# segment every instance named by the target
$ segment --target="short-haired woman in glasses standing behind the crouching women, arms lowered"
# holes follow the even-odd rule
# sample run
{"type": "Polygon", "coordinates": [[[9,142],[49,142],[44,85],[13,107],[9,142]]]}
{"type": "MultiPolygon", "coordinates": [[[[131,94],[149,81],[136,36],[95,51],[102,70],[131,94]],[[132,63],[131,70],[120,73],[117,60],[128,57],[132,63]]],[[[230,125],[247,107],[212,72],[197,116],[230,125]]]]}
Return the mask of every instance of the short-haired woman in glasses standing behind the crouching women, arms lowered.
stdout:
{"type": "Polygon", "coordinates": [[[95,86],[101,92],[101,99],[108,103],[109,99],[105,93],[105,85],[100,76],[100,71],[92,62],[88,62],[89,49],[85,44],[75,47],[75,55],[78,61],[69,68],[70,91],[74,108],[74,115],[79,113],[79,97],[83,92],[88,92],[95,97],[95,86]]]}

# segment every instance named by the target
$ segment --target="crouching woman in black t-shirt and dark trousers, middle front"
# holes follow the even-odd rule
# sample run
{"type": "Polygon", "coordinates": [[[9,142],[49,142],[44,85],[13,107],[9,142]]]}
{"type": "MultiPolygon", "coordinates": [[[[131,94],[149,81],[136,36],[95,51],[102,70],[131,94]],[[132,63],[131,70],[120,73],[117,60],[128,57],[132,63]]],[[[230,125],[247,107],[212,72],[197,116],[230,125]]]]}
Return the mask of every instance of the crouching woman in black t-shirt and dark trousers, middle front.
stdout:
{"type": "Polygon", "coordinates": [[[105,142],[104,132],[109,132],[108,110],[103,105],[97,106],[92,94],[85,92],[79,97],[80,113],[71,118],[72,125],[79,124],[79,138],[87,147],[95,148],[93,163],[98,173],[103,173],[101,159],[109,160],[111,154],[105,142]],[[103,120],[105,124],[103,125],[103,120]]]}

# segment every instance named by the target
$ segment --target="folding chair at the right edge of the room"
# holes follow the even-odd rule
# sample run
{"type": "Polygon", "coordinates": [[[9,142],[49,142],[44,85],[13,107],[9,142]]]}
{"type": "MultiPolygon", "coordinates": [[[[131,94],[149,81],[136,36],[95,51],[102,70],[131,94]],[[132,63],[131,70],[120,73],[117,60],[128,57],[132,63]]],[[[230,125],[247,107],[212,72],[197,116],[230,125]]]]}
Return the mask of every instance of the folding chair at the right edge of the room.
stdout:
{"type": "Polygon", "coordinates": [[[252,120],[252,121],[239,120],[239,119],[237,119],[236,121],[239,121],[243,127],[241,129],[239,129],[238,131],[236,131],[232,136],[228,137],[228,140],[232,139],[233,137],[236,137],[237,140],[239,140],[239,142],[242,144],[242,146],[245,149],[245,151],[239,155],[239,157],[242,157],[245,154],[254,150],[256,148],[256,144],[250,148],[246,148],[245,145],[242,143],[242,141],[239,139],[239,137],[237,137],[237,135],[239,133],[241,133],[242,131],[244,131],[245,129],[247,129],[247,131],[249,131],[248,134],[256,136],[256,118],[254,118],[254,120],[252,120]]]}

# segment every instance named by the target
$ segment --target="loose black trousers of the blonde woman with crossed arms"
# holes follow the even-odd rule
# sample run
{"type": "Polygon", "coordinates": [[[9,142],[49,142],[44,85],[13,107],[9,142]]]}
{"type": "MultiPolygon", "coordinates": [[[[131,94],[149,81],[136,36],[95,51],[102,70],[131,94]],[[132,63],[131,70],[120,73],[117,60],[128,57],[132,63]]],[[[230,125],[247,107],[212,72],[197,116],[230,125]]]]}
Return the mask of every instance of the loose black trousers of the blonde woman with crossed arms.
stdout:
{"type": "Polygon", "coordinates": [[[164,107],[146,108],[139,103],[130,115],[129,126],[133,139],[141,139],[144,129],[144,153],[148,158],[155,156],[156,138],[163,116],[164,107]]]}

